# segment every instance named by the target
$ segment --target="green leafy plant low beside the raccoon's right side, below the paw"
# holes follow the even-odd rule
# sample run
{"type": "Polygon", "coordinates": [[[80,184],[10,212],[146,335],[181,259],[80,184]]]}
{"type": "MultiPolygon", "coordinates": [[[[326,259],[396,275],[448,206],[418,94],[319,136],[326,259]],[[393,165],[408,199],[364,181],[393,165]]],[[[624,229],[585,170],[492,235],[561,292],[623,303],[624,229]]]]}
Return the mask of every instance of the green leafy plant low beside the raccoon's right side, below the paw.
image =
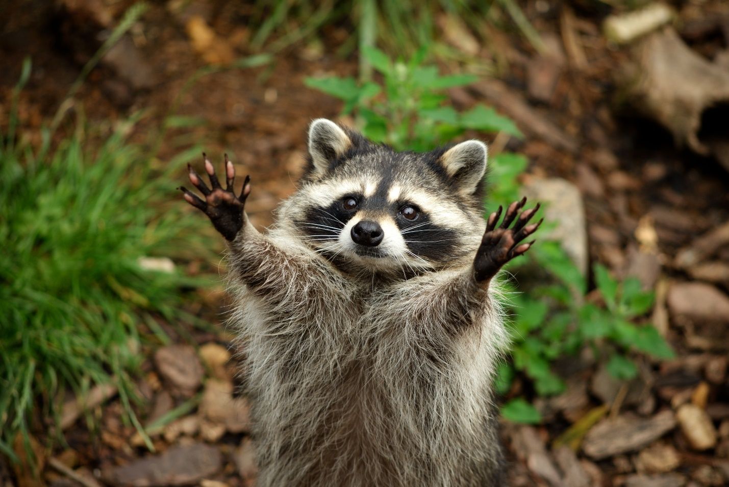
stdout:
{"type": "Polygon", "coordinates": [[[585,345],[597,359],[607,360],[608,373],[620,380],[631,380],[638,373],[631,354],[674,357],[652,324],[635,323],[650,311],[654,299],[652,292],[641,289],[637,278],[617,281],[607,268],[596,264],[593,273],[604,304],[585,303],[585,280],[557,244],[542,242],[534,251],[539,265],[552,270],[560,281],[512,300],[512,363],[499,367],[497,391],[506,394],[516,372],[521,372],[531,379],[538,395],[561,393],[564,381],[553,373],[550,363],[577,354],[585,345]]]}

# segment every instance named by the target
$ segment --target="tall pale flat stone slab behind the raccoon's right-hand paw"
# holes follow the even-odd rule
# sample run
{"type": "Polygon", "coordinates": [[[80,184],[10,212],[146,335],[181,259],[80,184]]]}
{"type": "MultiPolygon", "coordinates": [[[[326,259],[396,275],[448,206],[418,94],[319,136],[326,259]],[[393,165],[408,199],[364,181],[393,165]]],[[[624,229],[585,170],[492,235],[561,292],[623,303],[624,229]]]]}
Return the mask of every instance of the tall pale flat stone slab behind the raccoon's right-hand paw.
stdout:
{"type": "Polygon", "coordinates": [[[558,241],[584,276],[588,268],[588,244],[580,190],[565,179],[534,178],[523,187],[523,192],[534,201],[546,203],[544,217],[556,226],[542,238],[558,241]]]}

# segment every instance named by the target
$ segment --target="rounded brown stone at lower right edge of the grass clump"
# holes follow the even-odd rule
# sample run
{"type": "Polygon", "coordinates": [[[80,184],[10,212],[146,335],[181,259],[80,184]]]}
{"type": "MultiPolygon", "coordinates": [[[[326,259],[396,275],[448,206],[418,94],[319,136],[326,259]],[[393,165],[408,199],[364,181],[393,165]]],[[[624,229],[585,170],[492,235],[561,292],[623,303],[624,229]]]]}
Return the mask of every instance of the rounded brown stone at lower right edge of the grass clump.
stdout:
{"type": "Polygon", "coordinates": [[[195,348],[189,345],[171,345],[155,352],[155,365],[160,375],[179,391],[192,396],[203,383],[203,366],[195,348]]]}

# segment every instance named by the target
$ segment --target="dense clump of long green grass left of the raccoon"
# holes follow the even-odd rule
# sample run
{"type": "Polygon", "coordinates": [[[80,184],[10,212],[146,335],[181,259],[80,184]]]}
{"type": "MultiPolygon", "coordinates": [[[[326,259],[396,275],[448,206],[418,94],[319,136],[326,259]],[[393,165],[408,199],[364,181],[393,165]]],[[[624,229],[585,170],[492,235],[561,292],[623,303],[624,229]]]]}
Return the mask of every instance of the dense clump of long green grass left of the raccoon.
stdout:
{"type": "MultiPolygon", "coordinates": [[[[138,348],[147,336],[168,341],[158,319],[198,322],[182,309],[183,291],[208,284],[145,265],[182,258],[181,234],[199,233],[171,206],[172,171],[189,152],[155,171],[127,139],[134,120],[98,139],[76,130],[57,145],[47,130],[31,145],[16,136],[15,109],[29,73],[26,61],[0,130],[0,451],[11,457],[17,435],[28,447],[33,429],[47,429],[36,413],[58,420],[67,390],[83,397],[100,383],[117,386],[144,435],[130,407],[138,348]]],[[[184,252],[206,252],[185,242],[184,252]]]]}

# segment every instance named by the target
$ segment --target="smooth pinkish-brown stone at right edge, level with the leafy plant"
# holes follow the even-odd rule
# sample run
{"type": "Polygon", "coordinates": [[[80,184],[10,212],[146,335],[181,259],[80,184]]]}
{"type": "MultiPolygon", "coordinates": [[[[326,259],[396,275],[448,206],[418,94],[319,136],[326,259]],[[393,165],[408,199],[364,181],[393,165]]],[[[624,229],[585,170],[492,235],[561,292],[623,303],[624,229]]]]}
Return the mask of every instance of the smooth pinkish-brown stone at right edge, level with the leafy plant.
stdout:
{"type": "Polygon", "coordinates": [[[674,318],[729,323],[729,297],[702,282],[677,282],[668,289],[668,311],[674,318]]]}

